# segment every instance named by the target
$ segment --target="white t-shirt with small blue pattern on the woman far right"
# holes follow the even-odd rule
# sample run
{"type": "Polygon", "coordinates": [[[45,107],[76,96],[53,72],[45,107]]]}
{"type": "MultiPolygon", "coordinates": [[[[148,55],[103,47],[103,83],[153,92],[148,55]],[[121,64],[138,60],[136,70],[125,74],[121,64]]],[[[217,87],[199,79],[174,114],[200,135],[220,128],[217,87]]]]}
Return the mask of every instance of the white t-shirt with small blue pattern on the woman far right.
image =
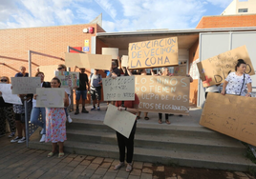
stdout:
{"type": "Polygon", "coordinates": [[[240,91],[242,89],[241,95],[245,96],[247,93],[246,84],[251,83],[251,78],[248,74],[245,74],[245,83],[244,83],[244,75],[238,76],[235,72],[230,72],[227,77],[225,78],[225,81],[228,82],[226,85],[226,93],[227,94],[240,94],[240,91]],[[242,87],[244,83],[244,86],[242,87]]]}

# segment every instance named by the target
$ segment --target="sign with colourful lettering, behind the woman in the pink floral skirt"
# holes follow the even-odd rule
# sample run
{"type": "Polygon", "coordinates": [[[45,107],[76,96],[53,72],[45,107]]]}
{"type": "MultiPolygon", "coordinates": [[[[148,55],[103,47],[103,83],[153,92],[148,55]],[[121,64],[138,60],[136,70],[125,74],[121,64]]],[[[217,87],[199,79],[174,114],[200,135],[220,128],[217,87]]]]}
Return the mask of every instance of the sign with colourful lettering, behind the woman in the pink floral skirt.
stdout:
{"type": "Polygon", "coordinates": [[[55,71],[55,76],[61,82],[61,88],[79,87],[79,72],[55,71]]]}

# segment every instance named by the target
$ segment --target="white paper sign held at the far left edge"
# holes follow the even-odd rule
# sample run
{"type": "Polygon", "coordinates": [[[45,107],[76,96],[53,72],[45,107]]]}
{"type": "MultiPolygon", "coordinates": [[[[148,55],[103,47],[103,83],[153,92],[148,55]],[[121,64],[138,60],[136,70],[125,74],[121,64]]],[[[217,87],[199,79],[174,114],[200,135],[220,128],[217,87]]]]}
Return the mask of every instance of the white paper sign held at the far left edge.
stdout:
{"type": "Polygon", "coordinates": [[[6,103],[22,105],[20,97],[17,94],[11,93],[11,84],[0,84],[0,91],[6,103]]]}

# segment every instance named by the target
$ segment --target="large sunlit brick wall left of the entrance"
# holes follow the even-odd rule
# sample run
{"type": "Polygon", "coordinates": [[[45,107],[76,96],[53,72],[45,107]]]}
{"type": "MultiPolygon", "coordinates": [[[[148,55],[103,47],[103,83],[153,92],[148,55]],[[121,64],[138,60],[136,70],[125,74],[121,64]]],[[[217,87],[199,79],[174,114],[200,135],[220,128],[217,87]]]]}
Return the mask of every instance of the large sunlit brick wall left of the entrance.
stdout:
{"type": "MultiPolygon", "coordinates": [[[[102,31],[96,24],[0,30],[0,64],[6,64],[0,65],[0,76],[14,76],[20,66],[29,71],[28,50],[64,59],[68,46],[84,47],[85,39],[89,39],[91,50],[91,37],[96,36],[96,31],[102,31]],[[82,31],[89,27],[95,28],[93,34],[82,31]]],[[[97,48],[100,48],[99,46],[100,44],[97,44],[97,48]]],[[[38,66],[64,63],[60,59],[32,54],[32,76],[38,66]]]]}

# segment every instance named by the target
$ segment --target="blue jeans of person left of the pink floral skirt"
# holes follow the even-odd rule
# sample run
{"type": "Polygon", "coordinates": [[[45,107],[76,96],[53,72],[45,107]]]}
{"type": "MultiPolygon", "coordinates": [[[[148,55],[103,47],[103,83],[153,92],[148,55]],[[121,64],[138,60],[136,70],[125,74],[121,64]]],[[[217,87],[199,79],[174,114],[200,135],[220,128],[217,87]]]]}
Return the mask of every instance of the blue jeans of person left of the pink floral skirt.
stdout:
{"type": "Polygon", "coordinates": [[[43,134],[45,134],[46,132],[45,108],[36,108],[36,107],[32,108],[31,123],[41,127],[43,129],[43,134]],[[40,112],[42,114],[42,121],[38,120],[40,112]]]}

